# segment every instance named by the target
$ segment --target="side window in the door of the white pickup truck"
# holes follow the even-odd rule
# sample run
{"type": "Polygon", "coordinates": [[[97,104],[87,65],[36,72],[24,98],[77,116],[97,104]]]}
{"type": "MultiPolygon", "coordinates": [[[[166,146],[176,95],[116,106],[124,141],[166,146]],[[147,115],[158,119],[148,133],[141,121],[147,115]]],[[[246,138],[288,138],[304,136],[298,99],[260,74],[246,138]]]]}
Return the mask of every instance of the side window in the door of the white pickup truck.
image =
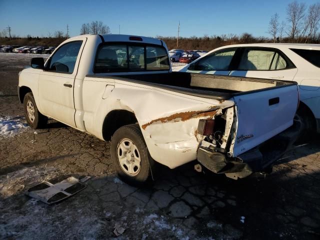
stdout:
{"type": "Polygon", "coordinates": [[[49,70],[72,73],[82,41],[71,41],[59,47],[50,59],[49,70]]]}

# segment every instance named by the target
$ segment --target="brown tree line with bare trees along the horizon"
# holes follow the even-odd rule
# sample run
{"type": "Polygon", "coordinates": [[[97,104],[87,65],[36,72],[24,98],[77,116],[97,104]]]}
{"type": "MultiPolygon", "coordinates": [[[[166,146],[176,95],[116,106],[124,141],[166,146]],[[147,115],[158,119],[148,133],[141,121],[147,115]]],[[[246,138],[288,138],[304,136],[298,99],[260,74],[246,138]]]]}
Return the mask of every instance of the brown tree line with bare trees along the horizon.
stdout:
{"type": "MultiPolygon", "coordinates": [[[[320,2],[307,6],[305,3],[292,1],[286,7],[285,20],[280,22],[278,13],[272,14],[269,20],[266,32],[271,37],[253,36],[250,33],[242,34],[221,34],[221,35],[203,35],[179,37],[178,46],[176,45],[176,37],[156,36],[165,41],[169,49],[181,48],[185,50],[211,50],[213,48],[239,43],[253,42],[298,42],[298,43],[320,43],[320,2]]],[[[58,45],[68,37],[67,31],[61,30],[48,32],[45,37],[34,37],[27,35],[19,37],[11,34],[11,40],[8,37],[8,31],[3,29],[0,31],[0,44],[16,44],[16,45],[58,45]]],[[[102,21],[91,21],[83,23],[80,27],[80,34],[110,34],[110,28],[102,21]]]]}

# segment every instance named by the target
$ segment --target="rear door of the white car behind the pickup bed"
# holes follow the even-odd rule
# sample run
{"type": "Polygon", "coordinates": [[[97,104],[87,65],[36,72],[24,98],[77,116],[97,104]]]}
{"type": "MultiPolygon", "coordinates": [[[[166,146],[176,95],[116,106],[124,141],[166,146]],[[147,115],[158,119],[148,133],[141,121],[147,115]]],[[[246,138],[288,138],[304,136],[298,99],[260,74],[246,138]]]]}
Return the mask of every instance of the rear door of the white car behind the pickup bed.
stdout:
{"type": "Polygon", "coordinates": [[[230,76],[293,80],[297,68],[280,50],[269,47],[242,47],[230,76]]]}

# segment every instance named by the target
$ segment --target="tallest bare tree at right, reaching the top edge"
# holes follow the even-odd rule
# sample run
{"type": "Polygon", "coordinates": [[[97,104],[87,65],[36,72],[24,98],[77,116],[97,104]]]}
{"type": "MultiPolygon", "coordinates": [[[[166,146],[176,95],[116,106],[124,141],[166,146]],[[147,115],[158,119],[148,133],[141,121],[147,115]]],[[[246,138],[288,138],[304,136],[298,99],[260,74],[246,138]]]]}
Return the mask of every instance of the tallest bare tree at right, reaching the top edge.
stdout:
{"type": "Polygon", "coordinates": [[[304,17],[305,3],[293,1],[286,8],[287,20],[289,21],[288,35],[293,41],[301,31],[301,23],[304,17]]]}

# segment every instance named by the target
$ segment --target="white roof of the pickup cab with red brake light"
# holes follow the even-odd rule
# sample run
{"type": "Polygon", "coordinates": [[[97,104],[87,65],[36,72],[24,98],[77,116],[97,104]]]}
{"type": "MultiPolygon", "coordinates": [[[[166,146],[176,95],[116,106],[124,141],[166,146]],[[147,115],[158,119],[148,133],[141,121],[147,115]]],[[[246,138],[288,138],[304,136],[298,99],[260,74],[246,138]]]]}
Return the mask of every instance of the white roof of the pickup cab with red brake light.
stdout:
{"type": "MultiPolygon", "coordinates": [[[[156,39],[153,37],[145,37],[145,36],[137,36],[137,35],[124,35],[124,34],[84,34],[84,35],[78,35],[71,37],[76,39],[78,37],[87,37],[87,38],[95,38],[97,35],[100,35],[103,37],[104,41],[125,41],[125,42],[142,42],[142,43],[149,43],[149,44],[156,44],[156,45],[165,45],[163,41],[160,39],[156,39]],[[130,39],[133,38],[133,39],[130,39]],[[136,39],[136,40],[134,40],[136,39]],[[142,39],[137,40],[137,39],[142,39]]],[[[70,38],[69,38],[70,39],[70,38]]]]}

